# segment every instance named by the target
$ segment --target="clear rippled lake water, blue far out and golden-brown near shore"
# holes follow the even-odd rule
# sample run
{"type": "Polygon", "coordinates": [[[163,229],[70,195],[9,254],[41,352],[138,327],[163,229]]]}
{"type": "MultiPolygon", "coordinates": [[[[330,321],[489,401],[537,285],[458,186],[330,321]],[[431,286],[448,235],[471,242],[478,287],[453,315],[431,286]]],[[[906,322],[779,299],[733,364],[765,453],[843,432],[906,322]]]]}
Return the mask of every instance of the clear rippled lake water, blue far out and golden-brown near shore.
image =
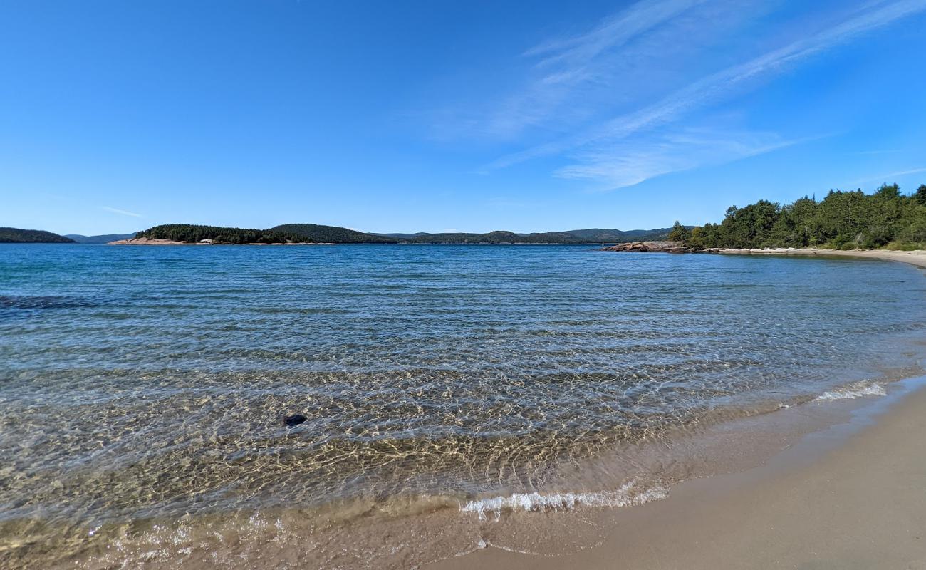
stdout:
{"type": "Polygon", "coordinates": [[[586,489],[602,454],[906,365],[924,301],[880,261],[3,245],[0,557],[127,521],[586,489]]]}

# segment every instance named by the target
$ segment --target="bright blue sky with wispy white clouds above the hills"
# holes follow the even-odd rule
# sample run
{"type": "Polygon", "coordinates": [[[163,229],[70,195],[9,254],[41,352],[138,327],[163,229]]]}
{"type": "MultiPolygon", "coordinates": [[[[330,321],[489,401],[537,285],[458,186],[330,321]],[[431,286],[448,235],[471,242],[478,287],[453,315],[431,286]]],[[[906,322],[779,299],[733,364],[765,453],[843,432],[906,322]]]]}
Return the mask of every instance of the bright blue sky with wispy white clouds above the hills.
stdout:
{"type": "Polygon", "coordinates": [[[716,222],[926,182],[926,0],[0,3],[0,225],[716,222]]]}

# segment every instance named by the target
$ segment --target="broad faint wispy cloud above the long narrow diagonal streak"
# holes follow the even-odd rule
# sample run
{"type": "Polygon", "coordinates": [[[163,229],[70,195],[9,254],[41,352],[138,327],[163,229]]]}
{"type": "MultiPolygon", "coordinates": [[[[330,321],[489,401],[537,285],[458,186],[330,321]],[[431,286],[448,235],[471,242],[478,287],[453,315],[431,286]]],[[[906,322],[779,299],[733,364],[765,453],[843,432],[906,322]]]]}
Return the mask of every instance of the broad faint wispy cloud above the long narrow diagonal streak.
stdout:
{"type": "Polygon", "coordinates": [[[616,99],[632,96],[628,84],[648,62],[670,68],[668,60],[689,57],[695,45],[716,41],[771,4],[775,0],[642,0],[589,32],[528,49],[522,55],[532,63],[522,87],[482,120],[465,121],[465,128],[501,138],[534,127],[570,131],[616,99]]]}

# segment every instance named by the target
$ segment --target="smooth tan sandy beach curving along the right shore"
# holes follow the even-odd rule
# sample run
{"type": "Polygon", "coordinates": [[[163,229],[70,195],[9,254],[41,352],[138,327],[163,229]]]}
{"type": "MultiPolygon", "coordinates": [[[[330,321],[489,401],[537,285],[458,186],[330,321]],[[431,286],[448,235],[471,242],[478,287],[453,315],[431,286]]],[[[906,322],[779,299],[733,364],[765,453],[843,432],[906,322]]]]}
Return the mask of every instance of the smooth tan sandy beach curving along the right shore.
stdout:
{"type": "MultiPolygon", "coordinates": [[[[926,251],[717,253],[832,255],[926,267],[926,251]]],[[[594,548],[551,557],[490,544],[428,568],[926,569],[923,386],[926,378],[897,383],[888,397],[859,404],[851,421],[804,437],[757,467],[684,482],[666,500],[595,513],[595,526],[606,530],[594,548]]]]}

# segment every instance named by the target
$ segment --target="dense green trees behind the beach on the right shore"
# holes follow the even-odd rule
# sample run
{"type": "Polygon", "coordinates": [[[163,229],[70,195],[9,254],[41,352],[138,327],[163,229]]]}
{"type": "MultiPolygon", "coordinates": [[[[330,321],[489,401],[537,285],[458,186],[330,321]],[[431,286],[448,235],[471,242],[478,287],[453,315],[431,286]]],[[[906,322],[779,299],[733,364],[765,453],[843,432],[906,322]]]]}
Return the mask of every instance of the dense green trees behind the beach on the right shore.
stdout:
{"type": "Polygon", "coordinates": [[[831,190],[819,202],[804,196],[781,206],[759,200],[727,209],[723,222],[686,229],[675,222],[669,239],[687,247],[926,247],[926,184],[910,195],[897,184],[872,194],[831,190]]]}

